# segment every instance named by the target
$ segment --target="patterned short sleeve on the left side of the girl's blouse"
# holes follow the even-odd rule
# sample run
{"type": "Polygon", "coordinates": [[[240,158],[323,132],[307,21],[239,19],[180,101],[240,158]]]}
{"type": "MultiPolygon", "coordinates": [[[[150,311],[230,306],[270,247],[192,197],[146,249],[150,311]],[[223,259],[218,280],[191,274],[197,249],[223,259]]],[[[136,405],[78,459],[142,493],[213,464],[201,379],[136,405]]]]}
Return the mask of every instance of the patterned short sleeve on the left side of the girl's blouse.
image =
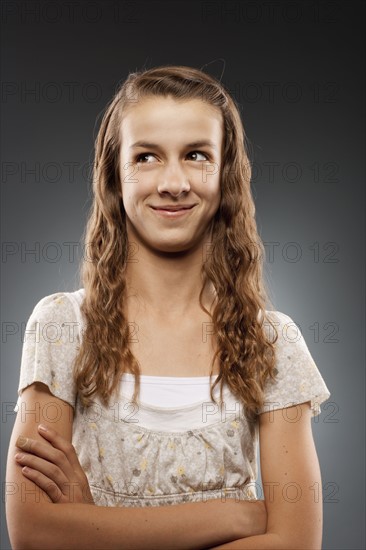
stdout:
{"type": "Polygon", "coordinates": [[[51,294],[36,304],[24,333],[19,398],[32,382],[43,382],[53,395],[75,408],[77,392],[72,367],[79,350],[79,328],[67,293],[51,294]]]}

